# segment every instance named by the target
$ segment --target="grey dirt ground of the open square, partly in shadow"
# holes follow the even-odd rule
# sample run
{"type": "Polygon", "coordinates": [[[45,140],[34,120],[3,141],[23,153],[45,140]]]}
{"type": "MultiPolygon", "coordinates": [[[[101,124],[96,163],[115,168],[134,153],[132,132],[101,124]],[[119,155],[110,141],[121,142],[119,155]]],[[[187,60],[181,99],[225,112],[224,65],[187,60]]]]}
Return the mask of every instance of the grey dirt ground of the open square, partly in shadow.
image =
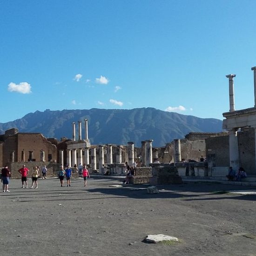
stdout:
{"type": "Polygon", "coordinates": [[[60,187],[56,178],[21,189],[11,180],[0,193],[0,255],[256,256],[256,195],[216,193],[256,188],[190,183],[148,194],[117,184],[94,177],[86,188],[82,179],[60,187]],[[156,234],[181,242],[143,242],[156,234]]]}

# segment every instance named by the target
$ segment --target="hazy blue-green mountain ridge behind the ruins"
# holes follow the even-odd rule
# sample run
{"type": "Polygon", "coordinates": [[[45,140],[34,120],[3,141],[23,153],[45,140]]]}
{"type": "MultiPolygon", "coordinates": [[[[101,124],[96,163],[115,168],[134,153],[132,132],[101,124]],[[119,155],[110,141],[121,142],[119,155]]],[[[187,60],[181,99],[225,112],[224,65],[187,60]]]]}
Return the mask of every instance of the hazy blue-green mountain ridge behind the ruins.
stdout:
{"type": "Polygon", "coordinates": [[[36,111],[7,123],[0,123],[0,133],[10,128],[19,132],[42,133],[47,138],[72,138],[72,122],[82,121],[82,139],[85,138],[84,119],[88,119],[91,144],[122,144],[153,139],[153,147],[161,147],[174,139],[182,139],[189,132],[221,132],[222,120],[181,115],[155,108],[83,109],[36,111]]]}

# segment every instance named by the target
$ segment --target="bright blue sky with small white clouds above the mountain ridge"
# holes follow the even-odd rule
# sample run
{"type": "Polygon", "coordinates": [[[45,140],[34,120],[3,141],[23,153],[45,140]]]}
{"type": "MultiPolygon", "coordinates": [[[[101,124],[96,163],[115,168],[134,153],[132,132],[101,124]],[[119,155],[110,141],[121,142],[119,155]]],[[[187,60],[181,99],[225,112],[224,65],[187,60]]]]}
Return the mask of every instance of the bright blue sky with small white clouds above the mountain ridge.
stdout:
{"type": "Polygon", "coordinates": [[[0,0],[0,122],[36,110],[254,106],[254,0],[0,0]]]}

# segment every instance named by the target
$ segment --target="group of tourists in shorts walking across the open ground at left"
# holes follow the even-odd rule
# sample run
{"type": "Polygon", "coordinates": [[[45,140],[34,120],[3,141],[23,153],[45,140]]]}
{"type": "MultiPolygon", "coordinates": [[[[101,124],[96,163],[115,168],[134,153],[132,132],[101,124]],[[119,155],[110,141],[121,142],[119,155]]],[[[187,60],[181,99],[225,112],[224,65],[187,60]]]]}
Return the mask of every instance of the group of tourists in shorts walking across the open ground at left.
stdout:
{"type": "MultiPolygon", "coordinates": [[[[42,167],[42,170],[41,170],[42,176],[40,176],[39,168],[40,168],[39,166],[34,166],[33,167],[32,184],[31,184],[30,189],[38,189],[38,183],[37,183],[38,178],[46,179],[46,173],[47,173],[46,166],[42,167]]],[[[28,174],[30,172],[29,169],[26,167],[25,164],[23,164],[22,168],[20,168],[18,170],[18,172],[21,175],[21,183],[22,183],[21,188],[22,189],[24,189],[24,188],[27,189],[28,188],[28,186],[27,186],[27,177],[28,177],[28,174]]],[[[71,180],[71,177],[72,177],[72,172],[73,171],[69,167],[69,165],[67,165],[66,169],[64,169],[64,167],[61,165],[60,170],[58,171],[58,177],[59,177],[60,182],[61,182],[61,187],[63,187],[65,177],[66,177],[66,180],[67,180],[67,187],[70,187],[70,180],[71,180]]],[[[1,183],[3,185],[3,192],[10,192],[8,190],[8,186],[9,186],[9,182],[10,182],[9,181],[10,175],[11,175],[11,172],[9,171],[8,166],[6,165],[1,170],[1,183]]],[[[83,179],[84,179],[84,187],[86,187],[87,186],[87,179],[90,178],[90,174],[89,174],[89,171],[87,169],[86,164],[84,164],[82,166],[81,175],[83,176],[83,179]]]]}

